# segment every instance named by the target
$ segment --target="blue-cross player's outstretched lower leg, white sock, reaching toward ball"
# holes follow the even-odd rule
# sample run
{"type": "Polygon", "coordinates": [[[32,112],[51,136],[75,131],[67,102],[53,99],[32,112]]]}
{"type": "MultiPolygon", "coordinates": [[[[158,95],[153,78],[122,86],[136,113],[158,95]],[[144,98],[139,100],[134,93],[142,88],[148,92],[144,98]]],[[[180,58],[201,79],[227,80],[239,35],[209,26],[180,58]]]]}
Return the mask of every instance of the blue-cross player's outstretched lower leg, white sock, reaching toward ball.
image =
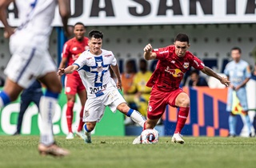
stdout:
{"type": "Polygon", "coordinates": [[[135,123],[138,123],[141,127],[144,127],[146,119],[141,115],[141,113],[131,109],[126,103],[119,104],[117,109],[118,111],[122,112],[122,114],[130,117],[130,119],[133,119],[135,123]]]}

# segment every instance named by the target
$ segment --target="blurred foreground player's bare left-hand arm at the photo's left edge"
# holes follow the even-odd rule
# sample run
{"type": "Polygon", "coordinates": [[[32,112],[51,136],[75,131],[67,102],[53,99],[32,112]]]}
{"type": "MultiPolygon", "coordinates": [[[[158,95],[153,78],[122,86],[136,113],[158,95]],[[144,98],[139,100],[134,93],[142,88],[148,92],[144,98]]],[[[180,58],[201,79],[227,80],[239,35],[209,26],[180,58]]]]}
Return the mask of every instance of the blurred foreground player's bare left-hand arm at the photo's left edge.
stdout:
{"type": "Polygon", "coordinates": [[[6,9],[10,5],[10,2],[14,2],[14,0],[0,1],[0,21],[2,21],[2,24],[5,26],[5,32],[3,33],[3,36],[6,38],[9,38],[14,33],[14,29],[10,27],[6,16],[6,9]]]}

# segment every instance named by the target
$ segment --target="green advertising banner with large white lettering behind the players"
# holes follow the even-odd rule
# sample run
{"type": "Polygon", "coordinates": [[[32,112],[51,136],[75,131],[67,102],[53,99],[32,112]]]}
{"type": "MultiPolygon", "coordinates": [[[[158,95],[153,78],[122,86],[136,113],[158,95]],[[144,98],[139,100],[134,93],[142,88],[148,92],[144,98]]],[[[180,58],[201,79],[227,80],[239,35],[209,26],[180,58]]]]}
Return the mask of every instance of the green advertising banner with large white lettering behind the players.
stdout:
{"type": "MultiPolygon", "coordinates": [[[[1,89],[2,90],[2,89],[1,89]]],[[[18,112],[20,107],[20,98],[14,103],[7,105],[0,111],[0,135],[13,135],[17,127],[18,112]]],[[[79,113],[81,111],[81,104],[77,96],[76,103],[74,104],[74,121],[72,130],[78,129],[79,113]]],[[[123,136],[125,135],[125,127],[123,125],[123,118],[121,112],[117,111],[115,114],[106,107],[105,115],[102,121],[97,124],[93,135],[106,135],[106,136],[123,136]]],[[[30,104],[27,108],[23,121],[22,121],[22,135],[39,135],[41,118],[39,117],[38,107],[35,104],[30,104]]],[[[66,95],[64,90],[58,99],[54,113],[54,135],[66,135],[68,128],[66,124],[66,95]]]]}

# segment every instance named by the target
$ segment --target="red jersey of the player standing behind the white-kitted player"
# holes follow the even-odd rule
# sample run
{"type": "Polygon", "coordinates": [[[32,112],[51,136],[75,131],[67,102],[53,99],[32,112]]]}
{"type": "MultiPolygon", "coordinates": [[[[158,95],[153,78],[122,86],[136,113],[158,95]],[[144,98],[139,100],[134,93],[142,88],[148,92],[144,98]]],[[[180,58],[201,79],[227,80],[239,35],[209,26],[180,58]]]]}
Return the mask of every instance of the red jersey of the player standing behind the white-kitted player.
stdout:
{"type": "MultiPolygon", "coordinates": [[[[75,37],[71,38],[69,41],[66,41],[65,45],[63,46],[62,58],[68,58],[67,66],[73,64],[81,53],[89,49],[88,41],[89,38],[87,37],[84,37],[82,42],[77,41],[75,37]]],[[[77,71],[74,71],[72,74],[79,76],[77,71]]]]}

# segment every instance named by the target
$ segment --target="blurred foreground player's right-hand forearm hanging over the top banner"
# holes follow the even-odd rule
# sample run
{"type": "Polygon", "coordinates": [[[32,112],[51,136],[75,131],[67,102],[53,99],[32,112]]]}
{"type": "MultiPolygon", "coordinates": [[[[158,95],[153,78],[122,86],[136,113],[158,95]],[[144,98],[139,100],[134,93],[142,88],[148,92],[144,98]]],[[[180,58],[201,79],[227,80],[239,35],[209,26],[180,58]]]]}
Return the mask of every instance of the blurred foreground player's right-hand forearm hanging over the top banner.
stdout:
{"type": "Polygon", "coordinates": [[[63,29],[67,37],[72,35],[71,29],[68,29],[67,21],[70,18],[70,0],[58,0],[58,10],[62,18],[63,29]]]}

